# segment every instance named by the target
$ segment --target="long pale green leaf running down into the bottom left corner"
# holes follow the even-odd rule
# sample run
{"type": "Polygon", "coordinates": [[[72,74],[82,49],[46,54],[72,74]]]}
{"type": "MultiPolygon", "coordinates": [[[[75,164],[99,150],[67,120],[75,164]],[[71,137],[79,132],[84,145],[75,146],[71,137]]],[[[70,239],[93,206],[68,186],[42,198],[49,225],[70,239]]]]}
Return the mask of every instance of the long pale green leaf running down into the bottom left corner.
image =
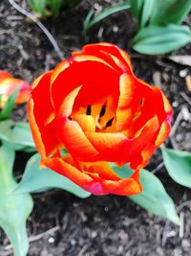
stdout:
{"type": "Polygon", "coordinates": [[[14,151],[3,145],[0,148],[0,226],[11,241],[14,256],[26,256],[29,248],[26,220],[32,212],[32,198],[12,192],[16,186],[13,162],[14,151]]]}

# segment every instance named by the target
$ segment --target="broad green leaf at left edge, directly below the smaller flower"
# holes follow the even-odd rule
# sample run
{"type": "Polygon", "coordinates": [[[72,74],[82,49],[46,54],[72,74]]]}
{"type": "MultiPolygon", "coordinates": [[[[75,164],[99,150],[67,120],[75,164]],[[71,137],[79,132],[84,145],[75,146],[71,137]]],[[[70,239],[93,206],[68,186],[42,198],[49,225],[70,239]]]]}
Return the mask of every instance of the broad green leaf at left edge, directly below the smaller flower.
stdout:
{"type": "Polygon", "coordinates": [[[28,123],[11,120],[0,122],[0,139],[10,143],[16,151],[35,151],[28,123]]]}

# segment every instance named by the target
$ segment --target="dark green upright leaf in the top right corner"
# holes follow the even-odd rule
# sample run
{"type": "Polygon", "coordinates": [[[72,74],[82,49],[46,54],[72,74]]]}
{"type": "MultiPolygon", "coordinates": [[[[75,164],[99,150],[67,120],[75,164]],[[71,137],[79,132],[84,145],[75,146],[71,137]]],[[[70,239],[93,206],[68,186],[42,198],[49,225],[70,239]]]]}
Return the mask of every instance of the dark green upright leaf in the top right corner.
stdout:
{"type": "Polygon", "coordinates": [[[191,0],[155,0],[155,8],[150,18],[150,24],[180,24],[190,11],[191,0]]]}

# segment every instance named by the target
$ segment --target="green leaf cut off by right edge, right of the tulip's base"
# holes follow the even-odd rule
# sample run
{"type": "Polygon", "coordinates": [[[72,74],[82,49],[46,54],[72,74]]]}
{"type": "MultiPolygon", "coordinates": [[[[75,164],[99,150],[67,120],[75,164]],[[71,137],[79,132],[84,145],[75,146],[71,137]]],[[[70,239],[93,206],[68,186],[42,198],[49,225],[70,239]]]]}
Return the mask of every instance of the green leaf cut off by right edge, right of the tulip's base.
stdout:
{"type": "Polygon", "coordinates": [[[191,153],[161,148],[168,174],[180,185],[191,188],[191,153]]]}

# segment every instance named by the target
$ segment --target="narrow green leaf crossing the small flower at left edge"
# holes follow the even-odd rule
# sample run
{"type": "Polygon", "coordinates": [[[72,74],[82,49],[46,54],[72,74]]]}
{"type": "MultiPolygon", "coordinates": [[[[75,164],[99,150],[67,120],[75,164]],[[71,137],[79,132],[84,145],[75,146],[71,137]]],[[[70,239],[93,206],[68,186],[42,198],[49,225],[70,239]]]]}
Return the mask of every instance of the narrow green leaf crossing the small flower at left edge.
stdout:
{"type": "Polygon", "coordinates": [[[0,112],[0,121],[8,119],[10,117],[12,109],[13,109],[13,107],[15,105],[16,97],[17,97],[17,95],[19,93],[19,90],[20,90],[20,86],[18,86],[14,90],[14,92],[12,92],[11,96],[8,99],[8,102],[3,107],[3,110],[1,110],[1,112],[0,112]]]}

